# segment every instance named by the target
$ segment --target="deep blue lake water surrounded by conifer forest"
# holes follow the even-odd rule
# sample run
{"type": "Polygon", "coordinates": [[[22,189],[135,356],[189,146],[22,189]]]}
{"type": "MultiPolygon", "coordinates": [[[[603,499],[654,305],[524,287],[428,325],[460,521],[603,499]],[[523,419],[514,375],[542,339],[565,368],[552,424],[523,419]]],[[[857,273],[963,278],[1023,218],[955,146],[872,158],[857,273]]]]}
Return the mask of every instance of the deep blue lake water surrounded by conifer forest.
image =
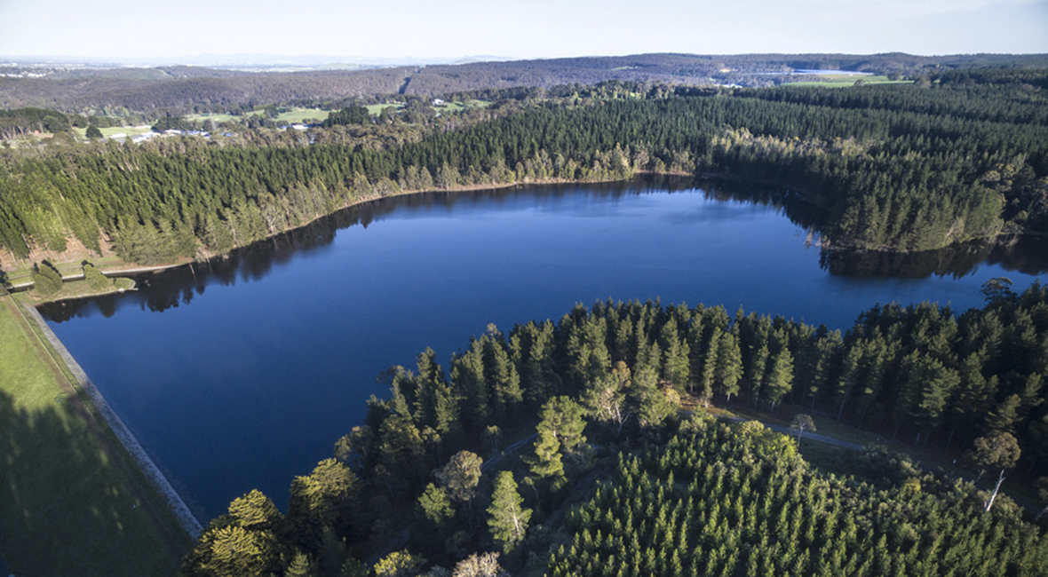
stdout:
{"type": "Polygon", "coordinates": [[[132,294],[42,312],[211,517],[253,488],[286,503],[291,478],[385,393],[378,372],[413,368],[427,347],[446,361],[488,323],[556,320],[611,297],[847,329],[876,303],[965,309],[990,278],[1025,287],[1045,270],[1043,246],[826,256],[786,208],[730,198],[623,183],[389,199],[210,268],[139,279],[132,294]]]}

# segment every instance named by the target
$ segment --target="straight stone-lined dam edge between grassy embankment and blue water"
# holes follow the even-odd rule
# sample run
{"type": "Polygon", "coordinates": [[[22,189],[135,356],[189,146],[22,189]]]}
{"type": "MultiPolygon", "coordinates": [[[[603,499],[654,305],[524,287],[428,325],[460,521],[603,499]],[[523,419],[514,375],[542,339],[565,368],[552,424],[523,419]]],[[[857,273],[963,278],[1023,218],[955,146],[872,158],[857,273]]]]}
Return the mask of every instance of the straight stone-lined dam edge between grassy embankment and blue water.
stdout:
{"type": "Polygon", "coordinates": [[[171,486],[171,483],[168,482],[168,479],[162,472],[160,472],[160,469],[157,468],[155,463],[153,463],[153,460],[146,453],[146,450],[138,443],[138,440],[134,437],[131,430],[128,429],[127,425],[124,424],[124,421],[122,421],[119,416],[117,416],[112,407],[109,406],[105,397],[102,396],[99,389],[93,382],[91,382],[91,379],[88,378],[87,373],[84,372],[80,363],[78,363],[72,355],[69,354],[65,345],[63,345],[58,335],[51,331],[51,328],[47,326],[47,321],[40,315],[40,312],[37,311],[36,307],[26,304],[23,305],[22,308],[32,321],[40,327],[40,330],[47,338],[47,341],[50,342],[51,347],[53,347],[59,353],[59,356],[62,357],[62,361],[77,379],[78,384],[84,390],[85,393],[87,393],[91,403],[106,420],[106,424],[109,425],[113,435],[119,440],[121,444],[124,445],[125,450],[127,450],[134,460],[134,464],[138,467],[138,470],[141,471],[141,473],[153,485],[153,489],[163,498],[168,509],[178,520],[182,530],[185,531],[185,533],[194,540],[199,538],[200,534],[203,532],[203,526],[200,525],[200,521],[190,511],[185,502],[182,501],[182,497],[178,494],[174,487],[171,486]]]}

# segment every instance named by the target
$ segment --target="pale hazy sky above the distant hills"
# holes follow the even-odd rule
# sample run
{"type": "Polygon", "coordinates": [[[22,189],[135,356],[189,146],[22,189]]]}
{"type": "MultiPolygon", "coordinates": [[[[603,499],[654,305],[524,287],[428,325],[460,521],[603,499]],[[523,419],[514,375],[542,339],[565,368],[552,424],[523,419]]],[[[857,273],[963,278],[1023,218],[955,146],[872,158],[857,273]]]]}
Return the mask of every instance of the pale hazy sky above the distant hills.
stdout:
{"type": "Polygon", "coordinates": [[[0,56],[1048,52],[1048,0],[0,0],[0,56]]]}

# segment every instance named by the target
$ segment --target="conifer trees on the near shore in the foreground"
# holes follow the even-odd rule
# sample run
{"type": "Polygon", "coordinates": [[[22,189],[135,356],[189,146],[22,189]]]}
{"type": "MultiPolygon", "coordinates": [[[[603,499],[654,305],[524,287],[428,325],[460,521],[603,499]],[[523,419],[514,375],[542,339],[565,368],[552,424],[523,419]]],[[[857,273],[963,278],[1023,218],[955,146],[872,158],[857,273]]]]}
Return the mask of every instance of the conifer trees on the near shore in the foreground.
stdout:
{"type": "MultiPolygon", "coordinates": [[[[247,560],[261,563],[260,573],[280,572],[302,556],[335,559],[319,561],[328,569],[314,574],[358,575],[350,555],[380,550],[412,518],[409,549],[438,563],[498,548],[509,564],[543,565],[555,527],[525,539],[528,520],[553,523],[597,459],[668,441],[620,457],[615,483],[569,515],[576,538],[553,555],[554,575],[616,575],[606,571],[631,564],[636,571],[623,575],[908,575],[918,567],[931,575],[999,574],[985,573],[995,562],[1041,574],[1046,565],[1030,559],[1048,554],[1044,538],[1017,508],[978,513],[989,507],[973,484],[876,454],[856,467],[883,486],[826,480],[792,456],[790,441],[758,432],[760,425],[733,428],[701,416],[681,423],[678,413],[691,393],[769,410],[792,400],[939,446],[1008,434],[1019,440],[1020,464],[1044,470],[1048,288],[1017,294],[996,281],[985,292],[985,308],[959,317],[926,303],[877,306],[844,335],[741,309],[733,318],[721,307],[652,302],[578,305],[559,323],[532,320],[508,333],[488,326],[447,371],[427,350],[415,371],[385,372],[390,396],[372,397],[334,459],[294,480],[287,515],[258,492],[235,501],[182,574],[232,575],[247,560]],[[481,484],[482,460],[472,451],[498,454],[503,431],[534,423],[522,464],[494,488],[489,479],[481,484]],[[674,430],[683,436],[670,441],[674,430]],[[515,510],[523,527],[516,536],[504,530],[505,503],[527,507],[515,510]],[[261,553],[238,557],[238,542],[261,553]],[[696,547],[701,555],[692,555],[696,547]],[[926,554],[938,548],[957,555],[926,554]],[[875,550],[880,555],[859,555],[875,550]]],[[[420,574],[380,567],[379,576],[420,574]]]]}

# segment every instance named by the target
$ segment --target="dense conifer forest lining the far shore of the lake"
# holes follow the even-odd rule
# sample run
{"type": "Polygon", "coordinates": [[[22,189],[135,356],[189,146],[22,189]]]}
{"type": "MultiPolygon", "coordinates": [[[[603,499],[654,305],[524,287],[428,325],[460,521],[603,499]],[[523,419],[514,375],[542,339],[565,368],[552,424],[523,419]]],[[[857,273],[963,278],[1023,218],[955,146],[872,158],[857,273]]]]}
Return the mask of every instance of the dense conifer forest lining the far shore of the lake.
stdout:
{"type": "Polygon", "coordinates": [[[854,88],[840,106],[820,89],[656,91],[593,106],[540,104],[384,150],[310,146],[292,134],[282,147],[179,140],[10,155],[0,176],[0,244],[25,259],[32,248],[64,251],[67,237],[95,252],[111,241],[126,260],[156,263],[225,253],[401,190],[635,171],[794,188],[827,212],[820,229],[831,244],[925,250],[1048,230],[1048,127],[1019,120],[1036,116],[1025,110],[1039,103],[1016,104],[1039,89],[985,90],[992,94],[979,108],[999,119],[965,117],[966,87],[854,88]],[[922,99],[939,108],[918,111],[912,103],[922,99]]]}

